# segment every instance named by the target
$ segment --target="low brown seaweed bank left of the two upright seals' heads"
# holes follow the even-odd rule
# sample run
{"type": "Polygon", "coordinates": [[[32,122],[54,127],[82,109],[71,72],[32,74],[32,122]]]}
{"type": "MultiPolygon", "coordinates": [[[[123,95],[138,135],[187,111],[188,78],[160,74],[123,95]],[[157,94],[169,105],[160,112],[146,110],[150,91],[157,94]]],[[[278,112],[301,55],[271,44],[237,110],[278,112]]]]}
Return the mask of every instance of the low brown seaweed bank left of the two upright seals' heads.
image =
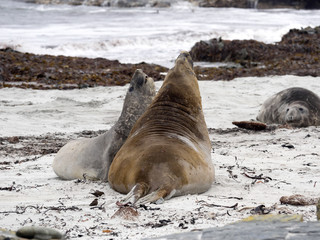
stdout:
{"type": "Polygon", "coordinates": [[[73,89],[125,85],[136,69],[155,81],[167,68],[155,64],[121,64],[104,58],[80,58],[21,53],[0,49],[2,87],[73,89]]]}

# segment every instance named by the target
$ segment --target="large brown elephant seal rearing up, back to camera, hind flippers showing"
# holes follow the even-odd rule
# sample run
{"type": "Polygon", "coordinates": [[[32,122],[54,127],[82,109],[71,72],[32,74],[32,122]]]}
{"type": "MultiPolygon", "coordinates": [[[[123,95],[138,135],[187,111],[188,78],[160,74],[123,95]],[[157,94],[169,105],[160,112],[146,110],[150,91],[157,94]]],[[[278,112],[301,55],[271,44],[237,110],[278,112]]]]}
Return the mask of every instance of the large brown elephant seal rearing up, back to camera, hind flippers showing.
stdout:
{"type": "Polygon", "coordinates": [[[110,186],[122,203],[157,202],[207,191],[214,180],[211,143],[198,80],[182,52],[158,94],[133,126],[110,166],[110,186]]]}

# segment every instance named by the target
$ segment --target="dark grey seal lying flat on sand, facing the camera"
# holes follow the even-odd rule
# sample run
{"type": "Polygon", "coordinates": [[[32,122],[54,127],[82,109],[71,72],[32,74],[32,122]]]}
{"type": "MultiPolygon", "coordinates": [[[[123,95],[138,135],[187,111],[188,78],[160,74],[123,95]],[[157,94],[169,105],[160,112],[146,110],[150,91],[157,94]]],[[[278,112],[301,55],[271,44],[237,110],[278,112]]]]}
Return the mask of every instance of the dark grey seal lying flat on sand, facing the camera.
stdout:
{"type": "Polygon", "coordinates": [[[304,88],[285,89],[263,103],[257,120],[288,127],[319,126],[320,98],[304,88]]]}

